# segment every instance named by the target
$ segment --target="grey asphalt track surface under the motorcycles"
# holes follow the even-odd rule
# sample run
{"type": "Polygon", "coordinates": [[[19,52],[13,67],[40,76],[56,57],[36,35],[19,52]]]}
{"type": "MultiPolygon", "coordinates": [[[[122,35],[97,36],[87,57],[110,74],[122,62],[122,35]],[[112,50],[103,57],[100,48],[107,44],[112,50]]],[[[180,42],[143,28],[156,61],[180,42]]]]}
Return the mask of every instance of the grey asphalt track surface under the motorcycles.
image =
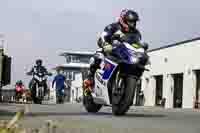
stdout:
{"type": "MultiPolygon", "coordinates": [[[[22,104],[0,104],[0,120],[11,119],[22,104]]],[[[110,107],[87,113],[81,104],[26,105],[21,121],[26,128],[40,128],[47,120],[58,124],[58,133],[200,133],[200,111],[131,107],[126,116],[115,117],[110,107]]]]}

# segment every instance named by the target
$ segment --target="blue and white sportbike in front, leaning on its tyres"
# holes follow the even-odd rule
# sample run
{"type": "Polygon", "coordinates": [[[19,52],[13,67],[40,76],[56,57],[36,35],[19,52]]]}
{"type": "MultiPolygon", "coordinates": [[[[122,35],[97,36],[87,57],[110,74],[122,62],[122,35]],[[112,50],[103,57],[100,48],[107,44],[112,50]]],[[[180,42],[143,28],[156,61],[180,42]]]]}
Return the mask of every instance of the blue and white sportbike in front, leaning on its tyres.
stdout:
{"type": "MultiPolygon", "coordinates": [[[[113,115],[124,115],[135,95],[136,85],[149,62],[149,56],[133,35],[115,37],[112,55],[103,56],[94,78],[93,91],[83,93],[83,105],[88,112],[112,106],[113,115]]],[[[147,45],[148,46],[148,45],[147,45]]]]}

